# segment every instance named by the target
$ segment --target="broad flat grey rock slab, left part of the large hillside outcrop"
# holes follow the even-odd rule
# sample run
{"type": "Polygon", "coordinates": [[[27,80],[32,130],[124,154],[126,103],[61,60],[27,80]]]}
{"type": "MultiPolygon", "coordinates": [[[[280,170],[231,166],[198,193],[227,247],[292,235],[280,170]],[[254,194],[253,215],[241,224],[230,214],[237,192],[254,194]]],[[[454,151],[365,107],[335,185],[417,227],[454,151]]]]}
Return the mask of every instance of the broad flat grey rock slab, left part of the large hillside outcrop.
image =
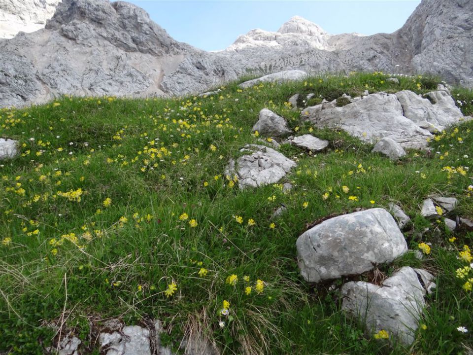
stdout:
{"type": "Polygon", "coordinates": [[[302,118],[318,128],[341,128],[365,142],[388,137],[403,148],[425,148],[432,134],[403,116],[396,95],[377,93],[342,107],[325,104],[303,110],[302,118]]]}

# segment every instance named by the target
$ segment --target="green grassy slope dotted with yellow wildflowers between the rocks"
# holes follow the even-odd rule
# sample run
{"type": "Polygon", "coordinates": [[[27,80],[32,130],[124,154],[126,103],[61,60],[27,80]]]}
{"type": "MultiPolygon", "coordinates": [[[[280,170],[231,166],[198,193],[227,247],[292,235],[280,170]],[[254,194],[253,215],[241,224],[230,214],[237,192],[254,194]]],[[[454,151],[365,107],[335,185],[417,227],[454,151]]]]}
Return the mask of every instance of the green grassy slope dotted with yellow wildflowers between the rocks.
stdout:
{"type": "MultiPolygon", "coordinates": [[[[439,134],[430,143],[433,154],[409,151],[393,163],[342,131],[310,127],[284,104],[296,93],[315,93],[312,100],[321,101],[365,90],[423,94],[437,84],[386,78],[355,73],[246,90],[235,82],[204,98],[63,97],[1,110],[1,136],[19,140],[22,156],[0,168],[0,352],[42,354],[56,333],[47,324],[63,319],[85,342],[83,352],[93,352],[90,324],[117,317],[127,324],[162,320],[162,340],[175,349],[192,329],[225,354],[462,354],[464,345],[472,346],[473,301],[455,271],[468,265],[457,255],[464,245],[473,247],[473,233],[451,235],[441,219],[428,221],[419,212],[423,199],[440,194],[459,199],[447,216],[473,216],[473,122],[439,134]],[[257,142],[251,127],[263,107],[283,115],[297,134],[330,141],[316,156],[281,146],[298,160],[285,180],[294,185],[288,193],[277,184],[240,191],[223,176],[229,158],[257,142]],[[444,167],[452,167],[450,174],[444,167]],[[407,254],[380,271],[424,267],[438,284],[427,300],[427,328],[407,350],[366,337],[340,311],[342,281],[335,289],[307,284],[296,263],[296,239],[308,223],[390,202],[412,218],[409,247],[431,242],[432,252],[422,261],[407,254]],[[287,213],[271,220],[281,203],[287,213]],[[188,219],[179,218],[183,213],[188,219]],[[226,283],[232,274],[235,286],[226,283]],[[257,280],[265,284],[261,293],[257,280]],[[177,290],[166,297],[172,282],[177,290]],[[228,317],[220,315],[224,300],[228,317]],[[460,325],[470,333],[458,332],[460,325]]],[[[471,90],[452,94],[465,115],[473,113],[471,90]]]]}

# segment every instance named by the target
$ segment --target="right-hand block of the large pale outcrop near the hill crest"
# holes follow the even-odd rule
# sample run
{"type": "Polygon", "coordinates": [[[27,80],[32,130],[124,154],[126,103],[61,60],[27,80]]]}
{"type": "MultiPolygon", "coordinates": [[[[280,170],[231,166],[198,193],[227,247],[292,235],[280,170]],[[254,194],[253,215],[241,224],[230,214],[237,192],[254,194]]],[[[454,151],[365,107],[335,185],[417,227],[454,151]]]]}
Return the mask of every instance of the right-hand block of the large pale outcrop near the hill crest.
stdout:
{"type": "Polygon", "coordinates": [[[442,131],[463,117],[460,109],[455,106],[453,99],[445,91],[433,91],[427,95],[435,103],[434,105],[412,91],[403,90],[396,93],[403,107],[404,116],[419,127],[434,133],[442,131]]]}

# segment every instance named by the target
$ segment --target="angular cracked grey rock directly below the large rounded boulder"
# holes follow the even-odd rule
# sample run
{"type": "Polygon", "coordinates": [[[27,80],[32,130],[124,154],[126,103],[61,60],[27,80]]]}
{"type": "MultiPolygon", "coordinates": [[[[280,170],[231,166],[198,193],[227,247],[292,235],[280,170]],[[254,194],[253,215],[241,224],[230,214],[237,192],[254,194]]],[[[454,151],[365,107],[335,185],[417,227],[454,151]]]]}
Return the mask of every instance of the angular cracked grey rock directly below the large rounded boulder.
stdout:
{"type": "Polygon", "coordinates": [[[363,281],[341,287],[341,308],[365,322],[368,334],[386,330],[403,344],[414,341],[423,308],[424,296],[435,284],[425,270],[405,266],[384,280],[381,286],[363,281]]]}

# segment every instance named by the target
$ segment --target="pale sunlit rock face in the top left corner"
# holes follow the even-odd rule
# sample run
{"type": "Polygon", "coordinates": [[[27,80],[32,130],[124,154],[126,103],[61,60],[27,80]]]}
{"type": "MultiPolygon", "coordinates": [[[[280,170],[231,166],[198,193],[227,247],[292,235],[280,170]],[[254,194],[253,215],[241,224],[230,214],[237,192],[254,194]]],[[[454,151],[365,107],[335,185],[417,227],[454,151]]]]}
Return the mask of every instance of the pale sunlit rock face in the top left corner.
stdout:
{"type": "Polygon", "coordinates": [[[2,0],[0,2],[0,38],[12,38],[18,32],[44,28],[61,0],[2,0]]]}

